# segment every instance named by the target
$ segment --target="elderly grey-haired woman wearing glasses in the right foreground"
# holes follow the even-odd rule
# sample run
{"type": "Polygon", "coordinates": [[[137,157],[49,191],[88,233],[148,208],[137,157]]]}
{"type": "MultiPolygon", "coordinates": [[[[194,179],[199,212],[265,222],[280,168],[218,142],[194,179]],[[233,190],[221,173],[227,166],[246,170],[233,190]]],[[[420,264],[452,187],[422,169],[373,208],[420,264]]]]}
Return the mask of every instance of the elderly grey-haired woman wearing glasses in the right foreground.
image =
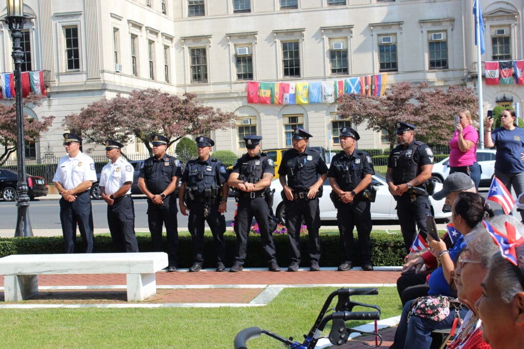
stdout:
{"type": "MultiPolygon", "coordinates": [[[[517,230],[524,226],[513,216],[496,216],[487,221],[501,234],[506,234],[505,223],[509,222],[517,230]]],[[[461,328],[448,349],[486,349],[489,344],[482,339],[481,320],[475,302],[482,296],[482,279],[487,274],[490,258],[499,251],[483,224],[478,224],[464,238],[465,249],[460,253],[455,266],[454,280],[457,297],[470,311],[464,317],[461,328]]]]}

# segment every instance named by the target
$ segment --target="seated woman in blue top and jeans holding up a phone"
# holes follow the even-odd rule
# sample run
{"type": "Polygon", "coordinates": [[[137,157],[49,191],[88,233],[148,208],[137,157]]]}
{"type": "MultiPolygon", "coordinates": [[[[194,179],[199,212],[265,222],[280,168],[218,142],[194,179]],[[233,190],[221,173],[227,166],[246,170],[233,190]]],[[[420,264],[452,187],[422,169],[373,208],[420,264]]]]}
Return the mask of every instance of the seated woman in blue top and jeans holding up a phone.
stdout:
{"type": "MultiPolygon", "coordinates": [[[[470,227],[465,232],[469,233],[477,223],[481,222],[484,216],[493,216],[493,211],[486,207],[486,200],[476,193],[460,193],[452,206],[452,219],[455,228],[461,231],[465,227],[470,227]],[[466,223],[467,222],[467,223],[466,223]]],[[[467,234],[466,234],[467,236],[467,234]]],[[[461,239],[463,239],[461,237],[461,239]]],[[[464,248],[464,244],[455,243],[455,250],[446,250],[445,243],[441,240],[430,241],[435,254],[439,255],[441,266],[437,268],[429,279],[428,297],[418,298],[418,301],[428,300],[429,303],[448,302],[447,297],[452,296],[449,284],[451,283],[451,272],[454,270],[454,262],[459,252],[464,248]],[[435,278],[432,282],[432,278],[435,278]],[[445,296],[445,297],[441,297],[445,296]]],[[[453,311],[441,312],[434,316],[419,316],[417,309],[412,311],[417,302],[406,302],[402,309],[402,316],[395,333],[395,342],[390,348],[429,348],[431,345],[430,334],[435,329],[450,328],[453,325],[455,312],[459,312],[461,318],[467,313],[466,308],[455,307],[453,311]],[[418,315],[417,315],[418,314],[418,315]]],[[[418,304],[418,303],[417,303],[418,304]]],[[[420,308],[427,307],[421,305],[420,308]]],[[[418,306],[417,306],[418,308],[418,306]]],[[[418,309],[420,310],[420,309],[418,309]]]]}

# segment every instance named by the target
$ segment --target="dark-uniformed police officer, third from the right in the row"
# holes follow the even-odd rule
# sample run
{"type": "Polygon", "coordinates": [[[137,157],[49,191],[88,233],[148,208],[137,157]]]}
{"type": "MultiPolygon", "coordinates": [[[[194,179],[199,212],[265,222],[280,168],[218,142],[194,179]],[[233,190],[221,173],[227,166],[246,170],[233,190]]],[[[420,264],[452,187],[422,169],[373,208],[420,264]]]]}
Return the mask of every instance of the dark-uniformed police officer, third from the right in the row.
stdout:
{"type": "MultiPolygon", "coordinates": [[[[320,271],[319,189],[328,177],[328,166],[320,152],[307,147],[308,131],[293,131],[293,149],[282,154],[278,169],[286,205],[286,228],[290,242],[291,264],[288,272],[297,272],[300,265],[300,228],[302,219],[308,227],[310,271],[320,271]]],[[[320,189],[321,190],[321,189],[320,189]]]]}

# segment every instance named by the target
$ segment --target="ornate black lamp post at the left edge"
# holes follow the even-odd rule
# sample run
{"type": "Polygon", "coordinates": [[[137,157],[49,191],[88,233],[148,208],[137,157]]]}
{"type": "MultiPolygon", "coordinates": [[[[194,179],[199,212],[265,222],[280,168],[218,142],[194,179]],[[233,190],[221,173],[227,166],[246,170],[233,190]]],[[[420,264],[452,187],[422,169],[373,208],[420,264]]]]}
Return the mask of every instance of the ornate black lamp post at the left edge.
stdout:
{"type": "Polygon", "coordinates": [[[15,103],[16,103],[16,160],[18,165],[18,185],[16,187],[16,218],[15,237],[32,237],[31,221],[29,220],[29,196],[27,195],[26,154],[24,147],[24,111],[22,106],[21,65],[24,52],[20,46],[24,17],[23,0],[7,0],[6,22],[13,39],[13,61],[15,62],[15,103]]]}

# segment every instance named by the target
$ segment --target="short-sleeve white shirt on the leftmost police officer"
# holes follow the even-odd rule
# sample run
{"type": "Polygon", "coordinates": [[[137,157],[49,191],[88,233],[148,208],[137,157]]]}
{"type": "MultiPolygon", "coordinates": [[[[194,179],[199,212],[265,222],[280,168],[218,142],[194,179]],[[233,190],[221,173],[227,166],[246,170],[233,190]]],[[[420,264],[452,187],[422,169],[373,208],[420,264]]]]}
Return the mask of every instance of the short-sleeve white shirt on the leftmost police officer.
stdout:
{"type": "Polygon", "coordinates": [[[53,182],[59,182],[65,190],[70,190],[84,181],[96,182],[95,162],[91,156],[82,152],[75,157],[62,156],[53,182]]]}

